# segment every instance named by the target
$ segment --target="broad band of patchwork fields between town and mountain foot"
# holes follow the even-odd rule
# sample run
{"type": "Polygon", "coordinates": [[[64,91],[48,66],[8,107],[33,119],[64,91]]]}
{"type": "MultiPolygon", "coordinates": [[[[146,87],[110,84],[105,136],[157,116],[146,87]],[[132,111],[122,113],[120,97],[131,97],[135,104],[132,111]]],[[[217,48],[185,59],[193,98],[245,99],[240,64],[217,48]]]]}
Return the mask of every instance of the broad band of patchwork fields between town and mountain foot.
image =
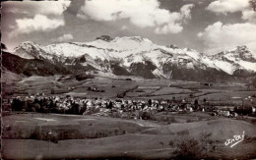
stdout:
{"type": "MultiPolygon", "coordinates": [[[[242,102],[248,96],[255,96],[256,89],[248,88],[243,84],[213,83],[204,85],[195,81],[182,80],[144,80],[132,77],[104,78],[96,77],[88,80],[70,80],[56,77],[31,77],[19,80],[17,86],[6,84],[3,87],[7,94],[28,95],[35,93],[45,93],[46,95],[69,94],[78,97],[100,97],[116,98],[117,94],[123,94],[125,99],[199,99],[208,101],[234,101],[242,102]],[[129,78],[131,80],[125,80],[129,78]],[[9,87],[10,86],[10,87],[9,87]],[[18,87],[19,86],[19,87],[18,87]],[[99,91],[89,91],[89,87],[96,87],[99,91]],[[56,90],[52,92],[52,90],[56,90]]],[[[253,98],[255,101],[255,98],[253,98]]]]}

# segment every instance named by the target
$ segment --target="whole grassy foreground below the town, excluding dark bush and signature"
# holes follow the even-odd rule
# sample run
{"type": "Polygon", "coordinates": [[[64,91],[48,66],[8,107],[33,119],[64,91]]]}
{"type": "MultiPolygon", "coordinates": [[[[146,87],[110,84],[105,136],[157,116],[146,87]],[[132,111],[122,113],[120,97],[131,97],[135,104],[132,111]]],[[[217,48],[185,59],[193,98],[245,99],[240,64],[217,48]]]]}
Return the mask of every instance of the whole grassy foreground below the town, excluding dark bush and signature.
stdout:
{"type": "Polygon", "coordinates": [[[199,139],[201,133],[210,133],[211,145],[216,147],[208,156],[223,159],[256,157],[255,126],[223,118],[160,125],[142,120],[94,116],[16,114],[3,117],[3,122],[2,155],[6,159],[167,159],[173,156],[180,140],[199,139]],[[35,129],[38,138],[29,137],[35,129]],[[8,137],[12,132],[22,137],[8,137]],[[90,132],[97,136],[87,136],[90,132]],[[243,132],[245,138],[242,142],[232,148],[224,145],[225,139],[243,132]],[[108,134],[101,136],[102,133],[108,134]],[[65,140],[61,136],[66,136],[65,140]]]}

